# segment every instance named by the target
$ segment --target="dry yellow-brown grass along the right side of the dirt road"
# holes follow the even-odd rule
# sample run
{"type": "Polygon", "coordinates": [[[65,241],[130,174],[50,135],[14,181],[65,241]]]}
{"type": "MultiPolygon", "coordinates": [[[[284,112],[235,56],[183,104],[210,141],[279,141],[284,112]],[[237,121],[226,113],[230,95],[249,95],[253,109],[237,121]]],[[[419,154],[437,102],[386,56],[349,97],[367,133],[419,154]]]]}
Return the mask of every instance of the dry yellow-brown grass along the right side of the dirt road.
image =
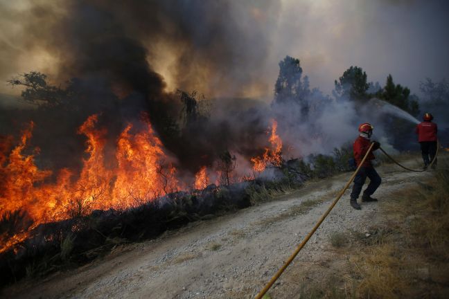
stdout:
{"type": "Polygon", "coordinates": [[[284,280],[295,283],[274,289],[272,298],[449,298],[447,156],[431,178],[398,190],[379,208],[385,223],[332,233],[331,246],[340,248],[333,262],[290,270],[284,280]]]}

